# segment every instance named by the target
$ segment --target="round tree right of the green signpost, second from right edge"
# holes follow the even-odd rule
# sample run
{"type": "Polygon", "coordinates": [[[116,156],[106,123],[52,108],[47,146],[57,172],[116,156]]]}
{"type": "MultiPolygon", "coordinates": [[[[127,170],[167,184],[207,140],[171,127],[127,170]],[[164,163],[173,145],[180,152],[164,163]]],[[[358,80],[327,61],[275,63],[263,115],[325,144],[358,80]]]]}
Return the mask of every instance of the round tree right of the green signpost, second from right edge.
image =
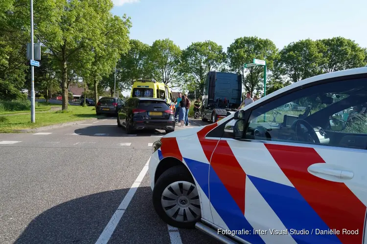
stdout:
{"type": "Polygon", "coordinates": [[[322,54],[316,41],[311,39],[291,42],[280,51],[279,72],[290,81],[297,82],[321,74],[322,54]]]}

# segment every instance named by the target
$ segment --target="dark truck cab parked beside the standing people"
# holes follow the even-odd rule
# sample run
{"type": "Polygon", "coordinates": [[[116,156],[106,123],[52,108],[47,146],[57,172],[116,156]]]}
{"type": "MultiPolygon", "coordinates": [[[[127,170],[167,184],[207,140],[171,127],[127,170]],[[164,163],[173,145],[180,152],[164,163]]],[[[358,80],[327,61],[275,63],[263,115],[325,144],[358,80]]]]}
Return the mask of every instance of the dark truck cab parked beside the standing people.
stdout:
{"type": "Polygon", "coordinates": [[[242,76],[209,72],[206,76],[202,121],[217,122],[237,111],[241,104],[242,76]]]}

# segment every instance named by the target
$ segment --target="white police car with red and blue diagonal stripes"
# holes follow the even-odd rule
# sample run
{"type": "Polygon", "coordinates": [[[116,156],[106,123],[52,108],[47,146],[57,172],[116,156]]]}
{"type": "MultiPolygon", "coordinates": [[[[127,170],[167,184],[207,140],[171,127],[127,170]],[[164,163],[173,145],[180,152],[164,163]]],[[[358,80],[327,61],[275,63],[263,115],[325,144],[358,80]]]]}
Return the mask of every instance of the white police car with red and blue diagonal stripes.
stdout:
{"type": "Polygon", "coordinates": [[[155,210],[167,224],[224,243],[366,244],[366,108],[362,67],[293,83],[224,120],[169,133],[149,161],[155,210]],[[278,109],[289,102],[302,110],[278,109]],[[356,106],[351,122],[345,111],[356,106]]]}

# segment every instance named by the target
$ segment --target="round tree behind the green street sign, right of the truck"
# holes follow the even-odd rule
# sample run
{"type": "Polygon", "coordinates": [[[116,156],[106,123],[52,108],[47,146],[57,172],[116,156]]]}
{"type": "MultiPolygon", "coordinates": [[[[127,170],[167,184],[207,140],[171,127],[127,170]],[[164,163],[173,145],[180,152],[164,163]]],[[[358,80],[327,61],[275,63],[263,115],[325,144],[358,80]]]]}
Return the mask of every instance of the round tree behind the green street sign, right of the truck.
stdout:
{"type": "Polygon", "coordinates": [[[269,39],[242,37],[229,45],[227,54],[231,69],[242,75],[246,90],[253,93],[255,89],[263,88],[264,68],[262,66],[244,68],[244,64],[252,63],[253,59],[265,60],[267,68],[272,70],[277,51],[275,44],[269,39]]]}

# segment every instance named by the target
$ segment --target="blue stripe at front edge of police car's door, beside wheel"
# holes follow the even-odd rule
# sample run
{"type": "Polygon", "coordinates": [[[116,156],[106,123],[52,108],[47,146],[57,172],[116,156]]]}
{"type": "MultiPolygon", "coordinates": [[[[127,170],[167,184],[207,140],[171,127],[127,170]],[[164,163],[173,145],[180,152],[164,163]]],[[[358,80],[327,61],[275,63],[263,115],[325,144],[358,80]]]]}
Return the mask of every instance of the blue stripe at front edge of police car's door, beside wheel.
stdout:
{"type": "Polygon", "coordinates": [[[251,234],[240,233],[237,236],[253,244],[265,243],[259,235],[253,234],[253,227],[246,220],[241,209],[230,196],[212,167],[210,167],[209,180],[210,202],[229,229],[237,231],[248,230],[251,234]]]}

